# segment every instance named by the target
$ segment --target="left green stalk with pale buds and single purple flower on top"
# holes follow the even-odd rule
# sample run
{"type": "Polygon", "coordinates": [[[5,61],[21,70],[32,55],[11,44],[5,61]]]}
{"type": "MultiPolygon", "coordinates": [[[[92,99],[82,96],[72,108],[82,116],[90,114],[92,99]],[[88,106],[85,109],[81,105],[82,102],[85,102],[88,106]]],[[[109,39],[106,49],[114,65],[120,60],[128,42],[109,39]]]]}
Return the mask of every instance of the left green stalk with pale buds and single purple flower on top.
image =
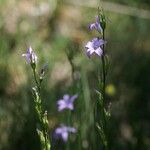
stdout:
{"type": "Polygon", "coordinates": [[[37,133],[40,138],[41,147],[42,150],[50,150],[51,145],[48,136],[47,111],[43,111],[42,100],[41,100],[41,83],[43,78],[41,80],[41,76],[40,76],[38,79],[37,72],[36,72],[36,64],[38,58],[34,53],[34,51],[32,50],[31,46],[27,49],[27,52],[25,54],[22,54],[22,56],[26,57],[26,61],[28,64],[30,64],[33,71],[35,86],[32,88],[32,92],[34,96],[34,104],[35,104],[34,107],[40,124],[40,129],[37,129],[37,133]]]}

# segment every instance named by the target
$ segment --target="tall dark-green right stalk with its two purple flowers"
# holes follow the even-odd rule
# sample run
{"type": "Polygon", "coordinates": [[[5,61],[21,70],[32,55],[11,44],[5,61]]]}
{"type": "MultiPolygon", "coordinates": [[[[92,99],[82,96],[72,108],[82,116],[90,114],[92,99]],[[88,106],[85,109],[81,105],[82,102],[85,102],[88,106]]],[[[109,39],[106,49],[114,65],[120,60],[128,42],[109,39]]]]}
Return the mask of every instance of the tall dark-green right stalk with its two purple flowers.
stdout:
{"type": "MultiPolygon", "coordinates": [[[[94,108],[94,118],[96,125],[96,132],[100,135],[104,150],[108,150],[108,139],[107,139],[107,120],[109,117],[109,112],[106,110],[106,74],[108,71],[108,60],[105,52],[105,28],[106,28],[106,19],[103,13],[103,10],[98,8],[98,16],[96,16],[96,22],[89,25],[90,30],[96,30],[100,36],[97,38],[93,38],[92,41],[89,41],[85,48],[86,53],[89,58],[92,55],[96,55],[100,58],[101,61],[101,73],[99,80],[100,91],[96,91],[99,94],[99,99],[96,101],[94,108]]],[[[97,145],[99,143],[99,136],[96,134],[97,145]]]]}

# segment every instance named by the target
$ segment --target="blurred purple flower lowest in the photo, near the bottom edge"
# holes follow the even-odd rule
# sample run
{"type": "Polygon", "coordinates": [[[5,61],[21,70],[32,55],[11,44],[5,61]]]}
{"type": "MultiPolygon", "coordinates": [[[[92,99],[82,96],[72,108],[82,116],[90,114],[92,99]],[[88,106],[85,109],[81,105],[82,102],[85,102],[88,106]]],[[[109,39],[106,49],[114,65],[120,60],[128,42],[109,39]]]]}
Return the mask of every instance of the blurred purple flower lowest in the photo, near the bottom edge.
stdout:
{"type": "Polygon", "coordinates": [[[61,138],[64,142],[67,142],[69,133],[76,133],[76,129],[73,127],[61,126],[55,130],[56,137],[61,138]]]}

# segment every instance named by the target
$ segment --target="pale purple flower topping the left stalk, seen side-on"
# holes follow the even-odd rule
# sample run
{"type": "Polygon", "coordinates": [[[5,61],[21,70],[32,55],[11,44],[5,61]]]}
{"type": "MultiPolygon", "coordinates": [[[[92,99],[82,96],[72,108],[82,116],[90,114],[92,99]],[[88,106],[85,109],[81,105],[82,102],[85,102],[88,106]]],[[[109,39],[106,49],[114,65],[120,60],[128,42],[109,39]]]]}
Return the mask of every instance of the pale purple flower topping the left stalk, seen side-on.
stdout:
{"type": "Polygon", "coordinates": [[[23,57],[26,57],[28,64],[36,64],[37,63],[37,56],[34,53],[31,46],[27,49],[27,52],[25,54],[22,54],[23,57]]]}

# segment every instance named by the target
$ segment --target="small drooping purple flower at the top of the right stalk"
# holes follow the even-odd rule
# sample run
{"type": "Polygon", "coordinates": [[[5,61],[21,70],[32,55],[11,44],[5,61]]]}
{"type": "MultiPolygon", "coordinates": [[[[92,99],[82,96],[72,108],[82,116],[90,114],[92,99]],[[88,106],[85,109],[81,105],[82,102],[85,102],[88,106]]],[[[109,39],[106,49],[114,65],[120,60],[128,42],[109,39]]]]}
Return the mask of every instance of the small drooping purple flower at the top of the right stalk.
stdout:
{"type": "Polygon", "coordinates": [[[98,32],[102,32],[102,27],[101,27],[101,24],[100,24],[100,18],[99,16],[96,16],[96,22],[95,23],[91,23],[89,25],[89,29],[90,30],[97,30],[98,32]]]}

